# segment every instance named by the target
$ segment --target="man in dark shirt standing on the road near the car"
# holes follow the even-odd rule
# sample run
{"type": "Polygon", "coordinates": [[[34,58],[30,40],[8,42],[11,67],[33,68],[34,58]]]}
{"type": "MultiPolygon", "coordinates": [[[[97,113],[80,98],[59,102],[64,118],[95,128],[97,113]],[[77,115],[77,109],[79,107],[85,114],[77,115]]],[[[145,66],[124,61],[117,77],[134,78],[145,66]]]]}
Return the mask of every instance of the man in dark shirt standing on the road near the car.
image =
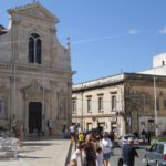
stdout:
{"type": "Polygon", "coordinates": [[[124,144],[122,147],[123,166],[134,166],[135,157],[138,157],[138,153],[133,146],[133,137],[129,137],[128,144],[124,144]]]}

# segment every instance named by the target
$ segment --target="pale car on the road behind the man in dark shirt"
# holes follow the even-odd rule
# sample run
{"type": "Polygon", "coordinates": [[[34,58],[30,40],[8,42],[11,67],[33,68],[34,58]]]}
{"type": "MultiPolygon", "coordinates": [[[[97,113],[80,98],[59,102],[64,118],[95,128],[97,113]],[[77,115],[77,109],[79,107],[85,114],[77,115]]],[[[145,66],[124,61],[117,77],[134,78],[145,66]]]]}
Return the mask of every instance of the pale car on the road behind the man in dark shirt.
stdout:
{"type": "Polygon", "coordinates": [[[128,137],[133,137],[134,139],[134,145],[138,145],[139,142],[138,142],[138,138],[134,135],[134,134],[125,134],[123,135],[120,139],[118,139],[118,146],[123,146],[124,144],[127,144],[128,143],[128,137]]]}

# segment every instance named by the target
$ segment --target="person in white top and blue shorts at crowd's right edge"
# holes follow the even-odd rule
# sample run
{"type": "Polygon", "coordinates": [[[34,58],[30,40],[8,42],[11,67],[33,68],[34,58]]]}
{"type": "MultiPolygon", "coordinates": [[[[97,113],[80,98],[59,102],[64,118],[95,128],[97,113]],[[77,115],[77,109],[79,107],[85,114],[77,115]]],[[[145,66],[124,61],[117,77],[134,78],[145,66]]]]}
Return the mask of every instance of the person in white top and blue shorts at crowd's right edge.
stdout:
{"type": "Polygon", "coordinates": [[[103,134],[103,139],[102,139],[103,159],[105,166],[108,166],[108,162],[111,159],[112,146],[113,146],[112,141],[110,139],[108,134],[105,132],[103,134]]]}

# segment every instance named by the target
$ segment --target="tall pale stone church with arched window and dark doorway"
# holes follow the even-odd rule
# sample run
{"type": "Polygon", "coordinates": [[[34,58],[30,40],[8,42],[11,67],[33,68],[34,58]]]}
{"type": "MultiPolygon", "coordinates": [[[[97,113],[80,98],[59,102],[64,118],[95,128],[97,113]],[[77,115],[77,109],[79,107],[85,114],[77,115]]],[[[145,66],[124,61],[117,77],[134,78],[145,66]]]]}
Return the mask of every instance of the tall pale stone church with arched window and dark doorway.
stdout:
{"type": "Polygon", "coordinates": [[[71,124],[70,41],[56,37],[59,19],[39,2],[9,9],[0,25],[0,128],[21,121],[25,134],[62,133],[71,124]]]}

